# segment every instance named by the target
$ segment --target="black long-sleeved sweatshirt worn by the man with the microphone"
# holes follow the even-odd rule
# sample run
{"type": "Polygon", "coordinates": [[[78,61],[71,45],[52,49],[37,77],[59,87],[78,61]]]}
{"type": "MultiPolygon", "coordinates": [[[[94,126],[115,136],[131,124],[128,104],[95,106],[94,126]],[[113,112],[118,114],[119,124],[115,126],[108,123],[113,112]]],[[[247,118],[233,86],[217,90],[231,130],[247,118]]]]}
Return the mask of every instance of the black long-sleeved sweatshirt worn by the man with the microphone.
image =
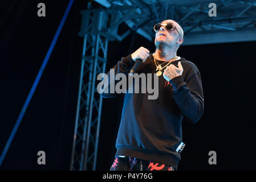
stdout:
{"type": "MultiPolygon", "coordinates": [[[[156,100],[149,100],[148,96],[152,95],[149,93],[125,93],[116,139],[116,156],[131,156],[168,164],[177,170],[181,159],[180,151],[184,147],[181,147],[182,119],[196,123],[204,111],[204,96],[198,68],[183,57],[171,64],[178,67],[178,61],[181,61],[184,69],[182,76],[174,77],[168,82],[161,75],[159,96],[156,100]]],[[[134,63],[131,55],[122,57],[113,67],[115,75],[125,73],[128,76],[134,63]]],[[[136,73],[156,73],[152,53],[141,63],[136,73]]],[[[110,79],[109,75],[108,72],[110,79]]],[[[108,92],[102,93],[101,96],[115,97],[115,94],[108,92]]]]}

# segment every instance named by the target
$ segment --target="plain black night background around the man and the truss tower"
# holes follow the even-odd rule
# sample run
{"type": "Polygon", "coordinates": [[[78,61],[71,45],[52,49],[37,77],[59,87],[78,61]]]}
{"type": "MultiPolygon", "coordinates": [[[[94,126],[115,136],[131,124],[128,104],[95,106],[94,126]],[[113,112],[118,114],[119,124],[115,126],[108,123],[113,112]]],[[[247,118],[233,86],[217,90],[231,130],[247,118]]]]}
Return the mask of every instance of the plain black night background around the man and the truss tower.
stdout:
{"type": "MultiPolygon", "coordinates": [[[[67,5],[68,1],[0,2],[0,152],[67,5]],[[40,2],[46,5],[46,17],[37,16],[40,2]]],[[[79,12],[84,9],[86,1],[74,2],[1,170],[70,169],[83,43],[78,36],[79,12]],[[37,164],[40,150],[46,152],[46,165],[37,164]]],[[[109,42],[106,70],[141,46],[155,51],[153,42],[137,34],[109,42]]],[[[200,70],[205,99],[200,121],[182,123],[186,147],[178,170],[256,169],[255,48],[256,42],[242,42],[178,49],[178,56],[200,70]],[[217,152],[217,165],[208,163],[212,150],[217,152]]],[[[113,162],[122,107],[121,95],[103,100],[97,170],[109,170],[113,162]]]]}

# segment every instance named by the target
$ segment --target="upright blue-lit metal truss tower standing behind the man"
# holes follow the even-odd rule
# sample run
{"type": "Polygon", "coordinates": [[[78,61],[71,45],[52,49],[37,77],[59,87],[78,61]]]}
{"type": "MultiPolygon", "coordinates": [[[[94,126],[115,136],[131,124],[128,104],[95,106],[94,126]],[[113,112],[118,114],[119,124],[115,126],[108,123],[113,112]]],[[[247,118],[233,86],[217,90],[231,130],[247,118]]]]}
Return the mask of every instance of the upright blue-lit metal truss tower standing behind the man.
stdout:
{"type": "Polygon", "coordinates": [[[96,76],[105,72],[108,38],[100,34],[104,28],[104,12],[84,11],[82,31],[83,53],[71,170],[95,170],[99,143],[102,98],[96,89],[96,76]],[[95,22],[95,19],[97,21],[95,22]]]}

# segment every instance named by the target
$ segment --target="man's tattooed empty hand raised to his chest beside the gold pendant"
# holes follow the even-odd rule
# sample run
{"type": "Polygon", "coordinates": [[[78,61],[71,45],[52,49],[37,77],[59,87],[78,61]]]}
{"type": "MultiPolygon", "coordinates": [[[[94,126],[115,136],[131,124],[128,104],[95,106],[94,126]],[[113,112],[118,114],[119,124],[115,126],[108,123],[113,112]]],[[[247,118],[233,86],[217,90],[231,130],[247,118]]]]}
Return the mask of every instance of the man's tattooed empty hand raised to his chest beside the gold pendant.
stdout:
{"type": "Polygon", "coordinates": [[[183,68],[182,68],[182,65],[179,61],[178,62],[178,68],[173,64],[166,67],[166,69],[164,70],[164,75],[163,76],[164,76],[165,80],[170,81],[174,77],[181,76],[182,72],[183,72],[183,68]]]}

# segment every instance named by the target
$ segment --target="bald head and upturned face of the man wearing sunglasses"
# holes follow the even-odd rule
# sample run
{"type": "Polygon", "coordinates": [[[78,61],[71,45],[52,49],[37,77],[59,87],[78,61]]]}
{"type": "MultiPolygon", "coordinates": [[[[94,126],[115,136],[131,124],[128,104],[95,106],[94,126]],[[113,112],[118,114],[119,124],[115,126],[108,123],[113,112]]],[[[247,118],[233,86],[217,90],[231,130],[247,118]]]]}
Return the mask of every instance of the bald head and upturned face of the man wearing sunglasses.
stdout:
{"type": "MultiPolygon", "coordinates": [[[[161,23],[173,23],[181,34],[181,30],[179,30],[180,27],[176,22],[172,20],[164,20],[161,23]]],[[[166,46],[173,47],[176,46],[176,43],[181,44],[182,38],[175,28],[174,30],[166,30],[165,26],[161,26],[160,30],[156,32],[155,45],[157,46],[157,44],[161,43],[165,44],[166,46]]]]}

